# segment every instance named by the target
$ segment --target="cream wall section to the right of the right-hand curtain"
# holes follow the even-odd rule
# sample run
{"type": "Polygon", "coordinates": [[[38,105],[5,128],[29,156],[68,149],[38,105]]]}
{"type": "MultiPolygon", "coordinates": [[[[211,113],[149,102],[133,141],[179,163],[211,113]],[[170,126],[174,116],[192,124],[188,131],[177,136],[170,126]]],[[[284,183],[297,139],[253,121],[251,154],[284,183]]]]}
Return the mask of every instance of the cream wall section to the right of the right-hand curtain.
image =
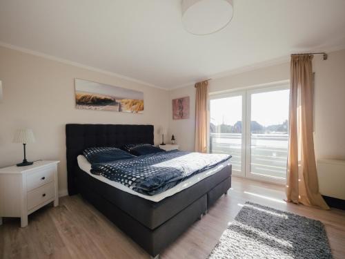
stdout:
{"type": "Polygon", "coordinates": [[[345,160],[345,50],[315,59],[315,155],[345,160]]]}

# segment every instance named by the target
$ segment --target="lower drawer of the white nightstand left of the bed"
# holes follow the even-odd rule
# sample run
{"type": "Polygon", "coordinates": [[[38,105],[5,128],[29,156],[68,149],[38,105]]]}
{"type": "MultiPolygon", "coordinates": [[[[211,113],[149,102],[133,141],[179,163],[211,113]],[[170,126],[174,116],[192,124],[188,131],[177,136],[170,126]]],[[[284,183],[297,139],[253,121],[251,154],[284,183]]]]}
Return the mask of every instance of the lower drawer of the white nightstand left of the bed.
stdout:
{"type": "Polygon", "coordinates": [[[50,200],[54,198],[55,195],[55,186],[54,182],[50,182],[49,184],[43,185],[38,189],[28,192],[28,210],[37,207],[39,204],[46,202],[46,200],[50,200]]]}

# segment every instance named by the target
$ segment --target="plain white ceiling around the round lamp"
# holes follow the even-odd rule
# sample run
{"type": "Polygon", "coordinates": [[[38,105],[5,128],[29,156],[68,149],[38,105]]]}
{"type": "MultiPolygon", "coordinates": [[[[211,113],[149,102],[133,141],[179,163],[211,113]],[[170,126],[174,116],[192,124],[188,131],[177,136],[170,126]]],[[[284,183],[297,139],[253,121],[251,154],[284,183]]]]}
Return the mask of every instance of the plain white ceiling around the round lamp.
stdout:
{"type": "Polygon", "coordinates": [[[162,88],[345,46],[344,0],[233,2],[229,26],[196,36],[181,0],[0,0],[0,41],[162,88]]]}

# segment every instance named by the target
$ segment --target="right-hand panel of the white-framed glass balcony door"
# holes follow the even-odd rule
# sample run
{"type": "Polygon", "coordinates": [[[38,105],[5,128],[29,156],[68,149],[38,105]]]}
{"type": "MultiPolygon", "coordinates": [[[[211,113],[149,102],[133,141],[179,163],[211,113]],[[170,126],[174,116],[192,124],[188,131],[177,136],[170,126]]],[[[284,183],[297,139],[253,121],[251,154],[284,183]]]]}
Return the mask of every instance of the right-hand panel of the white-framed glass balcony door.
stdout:
{"type": "Polygon", "coordinates": [[[284,182],[288,157],[286,86],[247,92],[247,172],[252,178],[284,182]]]}

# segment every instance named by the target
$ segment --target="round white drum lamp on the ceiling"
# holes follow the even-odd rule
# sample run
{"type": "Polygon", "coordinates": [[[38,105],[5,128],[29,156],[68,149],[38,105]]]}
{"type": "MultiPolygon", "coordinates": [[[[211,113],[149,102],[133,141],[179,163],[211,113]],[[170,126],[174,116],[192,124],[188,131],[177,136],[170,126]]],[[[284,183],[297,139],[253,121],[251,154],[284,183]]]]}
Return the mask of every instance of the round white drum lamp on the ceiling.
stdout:
{"type": "Polygon", "coordinates": [[[225,28],[233,18],[233,0],[183,0],[182,22],[194,35],[209,35],[225,28]]]}

